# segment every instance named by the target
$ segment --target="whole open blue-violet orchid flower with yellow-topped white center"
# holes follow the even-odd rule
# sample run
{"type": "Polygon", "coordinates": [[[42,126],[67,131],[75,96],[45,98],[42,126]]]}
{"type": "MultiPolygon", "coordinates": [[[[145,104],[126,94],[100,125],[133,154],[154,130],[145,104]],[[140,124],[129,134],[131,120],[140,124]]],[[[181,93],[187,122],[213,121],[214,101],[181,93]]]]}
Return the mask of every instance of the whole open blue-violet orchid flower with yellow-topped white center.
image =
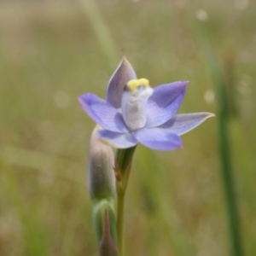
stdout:
{"type": "Polygon", "coordinates": [[[214,116],[207,112],[176,114],[187,84],[177,81],[152,88],[148,79],[137,79],[124,57],[109,80],[107,100],[86,93],[79,96],[79,102],[102,126],[99,137],[113,147],[142,143],[156,150],[173,150],[182,147],[181,135],[214,116]]]}

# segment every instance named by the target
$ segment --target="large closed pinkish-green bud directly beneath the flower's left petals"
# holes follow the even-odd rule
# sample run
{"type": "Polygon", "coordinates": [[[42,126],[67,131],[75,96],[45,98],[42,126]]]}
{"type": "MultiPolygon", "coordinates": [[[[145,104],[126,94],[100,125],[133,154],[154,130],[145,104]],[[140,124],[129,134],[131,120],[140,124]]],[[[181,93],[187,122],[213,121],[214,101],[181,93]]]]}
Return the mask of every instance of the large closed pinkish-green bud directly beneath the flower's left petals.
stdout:
{"type": "Polygon", "coordinates": [[[91,199],[100,200],[115,195],[113,149],[98,137],[101,129],[96,125],[90,138],[88,189],[91,199]]]}

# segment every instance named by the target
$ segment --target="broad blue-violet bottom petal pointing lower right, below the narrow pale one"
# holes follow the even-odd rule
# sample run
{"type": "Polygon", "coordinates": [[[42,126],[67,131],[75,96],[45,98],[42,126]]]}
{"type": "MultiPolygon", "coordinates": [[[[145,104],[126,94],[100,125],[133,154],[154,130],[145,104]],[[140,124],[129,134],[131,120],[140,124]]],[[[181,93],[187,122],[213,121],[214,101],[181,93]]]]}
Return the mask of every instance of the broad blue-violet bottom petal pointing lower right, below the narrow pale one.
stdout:
{"type": "Polygon", "coordinates": [[[133,131],[137,141],[148,148],[155,150],[174,150],[182,147],[182,142],[177,134],[157,128],[143,128],[133,131]]]}

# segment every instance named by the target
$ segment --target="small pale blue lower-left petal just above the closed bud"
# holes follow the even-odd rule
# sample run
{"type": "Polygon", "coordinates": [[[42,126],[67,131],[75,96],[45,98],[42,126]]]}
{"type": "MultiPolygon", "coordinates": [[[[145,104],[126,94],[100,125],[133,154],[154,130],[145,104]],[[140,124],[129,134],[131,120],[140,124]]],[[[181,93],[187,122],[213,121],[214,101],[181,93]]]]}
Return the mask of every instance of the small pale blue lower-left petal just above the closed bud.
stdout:
{"type": "Polygon", "coordinates": [[[99,131],[99,136],[110,143],[114,148],[131,148],[137,144],[137,139],[130,132],[119,133],[113,131],[99,131]]]}

